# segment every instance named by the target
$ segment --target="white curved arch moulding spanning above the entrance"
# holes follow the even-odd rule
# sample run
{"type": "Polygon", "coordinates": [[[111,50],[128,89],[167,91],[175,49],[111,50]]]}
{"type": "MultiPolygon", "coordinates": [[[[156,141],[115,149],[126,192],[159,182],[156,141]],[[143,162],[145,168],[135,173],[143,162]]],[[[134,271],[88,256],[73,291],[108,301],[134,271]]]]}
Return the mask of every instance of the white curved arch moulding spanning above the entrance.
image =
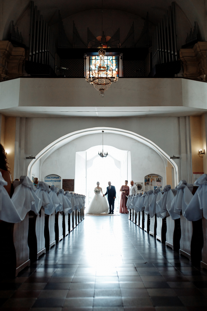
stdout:
{"type": "Polygon", "coordinates": [[[176,185],[178,184],[178,166],[172,159],[170,159],[170,157],[169,157],[169,155],[167,153],[165,153],[159,146],[157,146],[151,140],[149,140],[149,139],[147,139],[147,138],[145,138],[145,137],[143,137],[143,136],[141,136],[141,135],[139,135],[137,133],[134,133],[134,132],[131,132],[131,131],[127,131],[127,130],[123,130],[123,129],[120,129],[120,128],[103,128],[103,127],[87,128],[87,129],[84,129],[84,130],[79,130],[79,131],[71,132],[69,134],[66,134],[66,135],[56,139],[54,142],[52,142],[47,147],[45,147],[42,151],[40,151],[37,154],[36,159],[34,159],[34,160],[32,160],[30,162],[30,164],[28,166],[28,170],[27,170],[27,175],[31,179],[32,167],[43,156],[47,156],[47,155],[51,154],[56,149],[58,149],[61,146],[71,142],[72,140],[74,140],[74,139],[76,139],[78,137],[89,135],[89,134],[100,133],[101,130],[104,130],[106,133],[114,133],[114,134],[124,135],[124,136],[130,137],[130,138],[133,138],[133,139],[137,140],[138,142],[142,142],[146,146],[148,146],[151,149],[155,150],[161,157],[164,157],[165,159],[167,159],[173,165],[175,184],[176,185]]]}

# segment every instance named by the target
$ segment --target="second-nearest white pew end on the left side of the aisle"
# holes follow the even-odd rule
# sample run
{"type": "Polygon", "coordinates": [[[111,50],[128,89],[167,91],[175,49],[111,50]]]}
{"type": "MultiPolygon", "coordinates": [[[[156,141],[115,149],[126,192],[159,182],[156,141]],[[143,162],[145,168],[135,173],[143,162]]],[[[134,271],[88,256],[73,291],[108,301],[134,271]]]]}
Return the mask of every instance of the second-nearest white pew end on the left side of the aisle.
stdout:
{"type": "Polygon", "coordinates": [[[33,211],[29,211],[29,233],[28,233],[28,245],[29,245],[29,258],[31,262],[36,261],[39,256],[46,253],[45,237],[45,210],[41,207],[39,216],[33,211]]]}

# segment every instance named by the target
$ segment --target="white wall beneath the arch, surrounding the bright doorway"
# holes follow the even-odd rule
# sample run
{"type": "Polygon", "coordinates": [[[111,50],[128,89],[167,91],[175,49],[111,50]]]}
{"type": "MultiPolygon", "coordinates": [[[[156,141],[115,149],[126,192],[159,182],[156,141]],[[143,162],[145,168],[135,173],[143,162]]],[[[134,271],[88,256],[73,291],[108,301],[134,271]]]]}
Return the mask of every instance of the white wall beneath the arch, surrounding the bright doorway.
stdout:
{"type": "MultiPolygon", "coordinates": [[[[92,134],[80,137],[57,149],[43,162],[40,179],[43,180],[43,178],[49,174],[58,174],[62,179],[75,179],[75,167],[78,165],[78,162],[75,163],[76,152],[96,146],[97,141],[100,140],[100,136],[101,134],[92,134]]],[[[164,186],[166,185],[165,163],[157,152],[123,135],[106,133],[104,140],[109,146],[114,146],[121,150],[129,150],[131,152],[133,180],[144,182],[144,177],[147,174],[153,173],[161,175],[163,177],[163,184],[164,186]]],[[[79,165],[84,167],[82,162],[83,158],[81,157],[79,165]]],[[[83,181],[83,188],[84,184],[83,181]]],[[[76,187],[78,186],[76,185],[75,188],[76,187]]]]}

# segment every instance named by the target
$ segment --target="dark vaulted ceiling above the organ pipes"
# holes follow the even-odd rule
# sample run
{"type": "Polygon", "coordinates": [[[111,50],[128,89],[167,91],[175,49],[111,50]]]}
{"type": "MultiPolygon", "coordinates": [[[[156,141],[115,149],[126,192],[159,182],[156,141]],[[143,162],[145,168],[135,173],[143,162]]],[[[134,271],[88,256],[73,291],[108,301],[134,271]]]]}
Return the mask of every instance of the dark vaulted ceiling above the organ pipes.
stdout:
{"type": "MultiPolygon", "coordinates": [[[[0,31],[3,35],[4,28],[11,20],[17,21],[21,18],[30,4],[30,0],[0,0],[2,2],[2,17],[0,18],[0,31]]],[[[60,10],[63,18],[77,14],[79,12],[101,9],[120,10],[135,14],[142,18],[149,12],[150,21],[157,23],[164,12],[171,5],[172,0],[35,0],[38,10],[44,18],[51,24],[57,22],[57,12],[60,10]]],[[[187,19],[193,25],[194,21],[200,23],[200,30],[206,35],[206,8],[203,0],[177,0],[176,4],[187,19]]],[[[1,5],[0,5],[1,10],[1,5]]],[[[1,36],[0,36],[1,39],[1,36]]]]}

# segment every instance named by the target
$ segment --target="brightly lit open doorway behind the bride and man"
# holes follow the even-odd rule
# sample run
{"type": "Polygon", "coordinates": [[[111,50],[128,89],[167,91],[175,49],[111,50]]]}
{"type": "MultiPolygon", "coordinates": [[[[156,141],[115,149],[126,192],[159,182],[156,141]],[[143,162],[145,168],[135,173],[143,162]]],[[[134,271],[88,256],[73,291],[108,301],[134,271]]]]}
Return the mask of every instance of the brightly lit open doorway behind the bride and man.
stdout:
{"type": "Polygon", "coordinates": [[[93,146],[85,151],[76,152],[75,156],[75,192],[83,193],[85,188],[86,206],[94,196],[93,190],[97,181],[103,193],[106,192],[108,181],[116,188],[115,209],[119,206],[119,189],[125,179],[131,180],[131,153],[113,146],[104,145],[108,152],[106,158],[101,158],[98,152],[101,145],[93,146]]]}

